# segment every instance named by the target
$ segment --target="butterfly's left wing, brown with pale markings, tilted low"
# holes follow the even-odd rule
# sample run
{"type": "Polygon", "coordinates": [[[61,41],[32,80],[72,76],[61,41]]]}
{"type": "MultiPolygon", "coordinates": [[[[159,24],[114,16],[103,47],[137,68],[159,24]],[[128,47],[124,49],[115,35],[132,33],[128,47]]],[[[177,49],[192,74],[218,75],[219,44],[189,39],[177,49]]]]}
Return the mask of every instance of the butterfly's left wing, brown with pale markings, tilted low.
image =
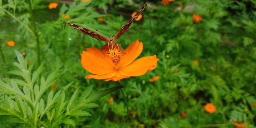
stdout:
{"type": "Polygon", "coordinates": [[[74,29],[83,32],[85,35],[88,35],[88,36],[90,36],[92,38],[96,38],[99,41],[106,41],[106,42],[108,42],[107,38],[103,37],[102,35],[99,35],[96,32],[93,32],[93,31],[91,31],[89,29],[86,29],[84,27],[81,27],[81,26],[73,24],[73,23],[67,23],[67,22],[63,22],[63,23],[66,23],[68,26],[72,26],[74,29]]]}

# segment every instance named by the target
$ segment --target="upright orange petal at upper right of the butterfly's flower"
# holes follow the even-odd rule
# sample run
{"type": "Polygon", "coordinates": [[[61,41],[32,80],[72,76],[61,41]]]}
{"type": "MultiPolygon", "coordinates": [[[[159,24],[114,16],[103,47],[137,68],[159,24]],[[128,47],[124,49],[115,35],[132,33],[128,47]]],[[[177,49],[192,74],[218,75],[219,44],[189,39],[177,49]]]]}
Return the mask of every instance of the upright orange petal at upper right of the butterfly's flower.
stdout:
{"type": "Polygon", "coordinates": [[[119,61],[119,66],[125,67],[128,64],[131,64],[131,62],[134,61],[140,55],[140,53],[142,52],[142,49],[143,49],[143,44],[142,42],[139,42],[139,40],[137,39],[137,41],[132,43],[130,46],[128,46],[124,50],[124,55],[119,61]]]}

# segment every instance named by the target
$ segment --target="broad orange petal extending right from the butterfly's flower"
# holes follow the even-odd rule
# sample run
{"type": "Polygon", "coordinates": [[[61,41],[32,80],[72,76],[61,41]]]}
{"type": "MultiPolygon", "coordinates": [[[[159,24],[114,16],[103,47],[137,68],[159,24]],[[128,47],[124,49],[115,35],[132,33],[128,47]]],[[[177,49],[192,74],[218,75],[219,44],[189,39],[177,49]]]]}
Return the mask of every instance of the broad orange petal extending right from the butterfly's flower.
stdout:
{"type": "Polygon", "coordinates": [[[146,56],[119,69],[122,76],[141,76],[157,67],[156,55],[146,56]]]}

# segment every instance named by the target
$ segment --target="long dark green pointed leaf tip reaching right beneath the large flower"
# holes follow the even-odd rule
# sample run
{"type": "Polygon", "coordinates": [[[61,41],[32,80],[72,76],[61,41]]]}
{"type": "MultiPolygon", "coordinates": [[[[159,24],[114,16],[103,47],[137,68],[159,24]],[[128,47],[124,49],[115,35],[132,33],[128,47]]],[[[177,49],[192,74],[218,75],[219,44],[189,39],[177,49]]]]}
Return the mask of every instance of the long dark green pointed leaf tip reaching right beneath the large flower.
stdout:
{"type": "Polygon", "coordinates": [[[86,103],[93,102],[93,101],[95,101],[95,100],[97,100],[97,99],[99,99],[103,96],[108,95],[109,93],[112,93],[116,90],[119,90],[122,87],[124,87],[124,86],[116,86],[116,87],[111,87],[109,89],[101,90],[101,91],[99,91],[97,93],[94,93],[93,95],[89,96],[89,98],[86,99],[85,102],[86,103]]]}

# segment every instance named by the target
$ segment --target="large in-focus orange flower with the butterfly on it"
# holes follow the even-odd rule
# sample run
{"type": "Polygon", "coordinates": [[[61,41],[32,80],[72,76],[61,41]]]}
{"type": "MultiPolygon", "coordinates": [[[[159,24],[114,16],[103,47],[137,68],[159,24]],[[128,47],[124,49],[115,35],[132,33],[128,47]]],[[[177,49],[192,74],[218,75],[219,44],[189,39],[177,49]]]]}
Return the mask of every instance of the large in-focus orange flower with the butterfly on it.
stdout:
{"type": "Polygon", "coordinates": [[[87,48],[81,54],[81,64],[85,70],[95,75],[86,79],[105,79],[119,81],[130,76],[141,76],[157,67],[156,55],[143,57],[134,61],[142,52],[143,44],[139,40],[132,43],[124,51],[121,47],[110,49],[105,44],[101,49],[87,48]]]}

